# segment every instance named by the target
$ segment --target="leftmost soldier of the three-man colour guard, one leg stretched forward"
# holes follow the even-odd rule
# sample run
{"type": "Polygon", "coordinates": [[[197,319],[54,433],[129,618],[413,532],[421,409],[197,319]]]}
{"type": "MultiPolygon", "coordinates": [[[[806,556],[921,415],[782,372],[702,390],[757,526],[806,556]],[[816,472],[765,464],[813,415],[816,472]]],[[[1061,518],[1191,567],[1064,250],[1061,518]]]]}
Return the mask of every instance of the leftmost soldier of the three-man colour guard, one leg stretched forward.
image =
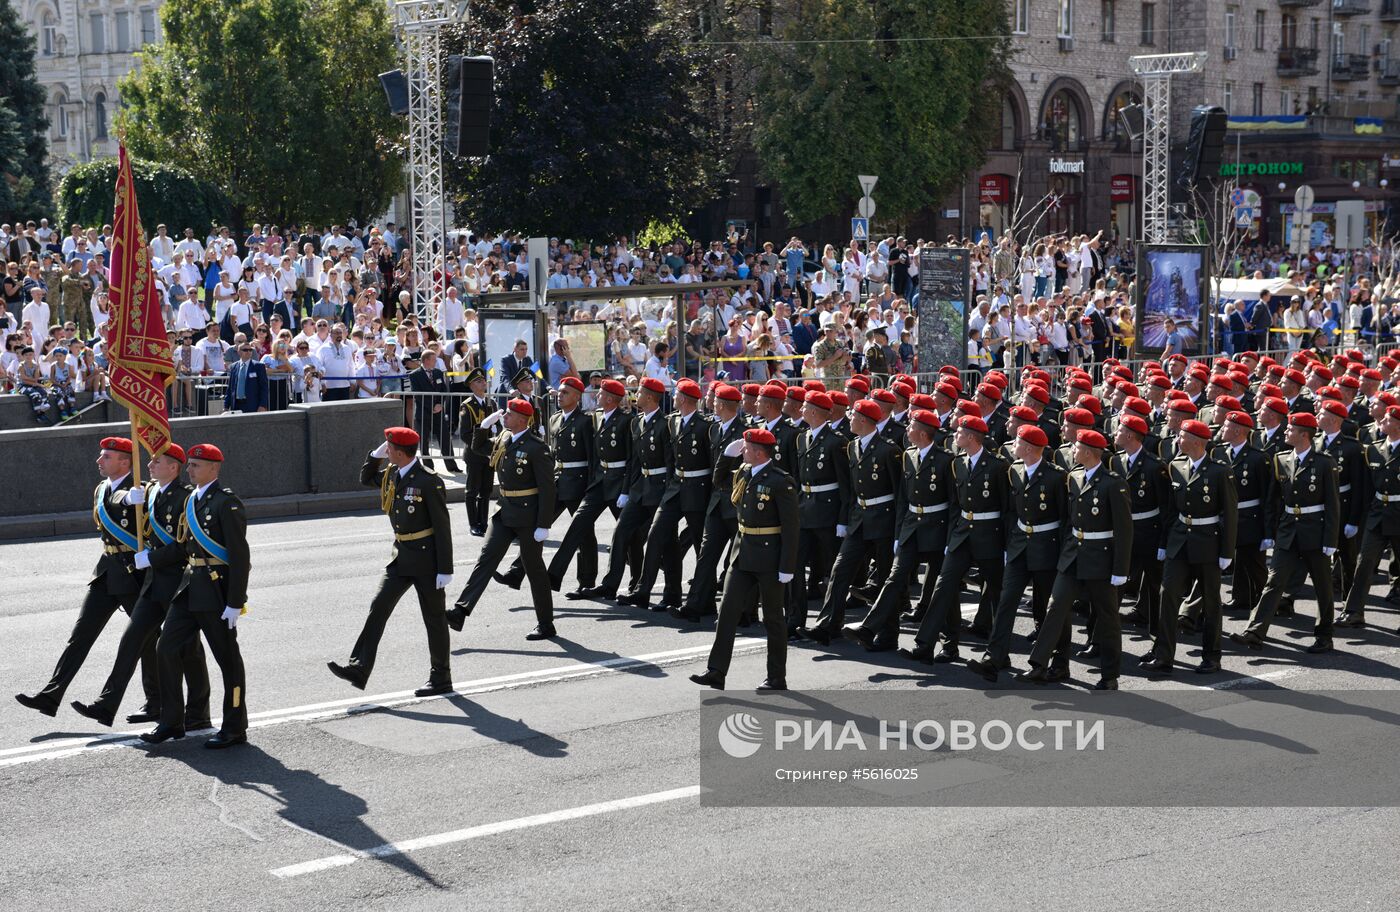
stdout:
{"type": "MultiPolygon", "coordinates": [[[[49,682],[38,693],[15,693],[21,706],[56,716],[69,684],[87,660],[97,637],[118,609],[132,614],[141,591],[144,576],[136,570],[136,509],[127,503],[132,486],[132,441],[126,437],[104,437],[97,457],[102,482],[92,492],[92,521],[102,539],[102,556],[92,569],[92,580],[83,597],[83,607],[59,656],[49,682]]],[[[155,656],[150,647],[143,654],[141,685],[146,689],[146,709],[161,706],[161,691],[155,674],[155,656]]]]}

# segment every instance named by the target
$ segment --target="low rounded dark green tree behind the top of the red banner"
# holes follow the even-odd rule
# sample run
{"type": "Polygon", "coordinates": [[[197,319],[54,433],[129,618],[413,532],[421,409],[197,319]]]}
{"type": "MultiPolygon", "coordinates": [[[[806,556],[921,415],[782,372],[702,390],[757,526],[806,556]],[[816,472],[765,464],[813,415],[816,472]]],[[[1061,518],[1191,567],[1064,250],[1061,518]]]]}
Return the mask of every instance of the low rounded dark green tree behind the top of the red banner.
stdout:
{"type": "MultiPolygon", "coordinates": [[[[59,224],[112,221],[116,168],[116,158],[98,158],[64,174],[59,181],[59,224]]],[[[183,168],[134,158],[132,177],[147,235],[154,235],[155,226],[164,223],[172,237],[179,237],[182,228],[195,228],[204,237],[211,224],[228,221],[228,198],[183,168]]]]}

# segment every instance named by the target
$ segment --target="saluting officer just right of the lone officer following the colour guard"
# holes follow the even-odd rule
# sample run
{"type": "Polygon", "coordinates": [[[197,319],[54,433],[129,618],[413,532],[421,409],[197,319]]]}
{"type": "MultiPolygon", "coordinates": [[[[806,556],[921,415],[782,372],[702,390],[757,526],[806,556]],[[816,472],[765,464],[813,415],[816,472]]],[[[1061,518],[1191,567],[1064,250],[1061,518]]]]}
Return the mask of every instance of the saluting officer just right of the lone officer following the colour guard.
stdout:
{"type": "Polygon", "coordinates": [[[477,452],[490,454],[500,490],[482,553],[462,594],[447,612],[447,623],[454,630],[462,629],[514,541],[519,545],[531,601],[535,602],[536,626],[525,639],[549,640],[556,636],[549,570],[542,553],[542,542],[549,538],[549,521],[554,516],[554,457],[545,441],[531,433],[533,417],[535,406],[525,399],[511,399],[504,412],[487,415],[472,437],[477,452]],[[503,423],[505,430],[493,437],[496,426],[503,423]]]}

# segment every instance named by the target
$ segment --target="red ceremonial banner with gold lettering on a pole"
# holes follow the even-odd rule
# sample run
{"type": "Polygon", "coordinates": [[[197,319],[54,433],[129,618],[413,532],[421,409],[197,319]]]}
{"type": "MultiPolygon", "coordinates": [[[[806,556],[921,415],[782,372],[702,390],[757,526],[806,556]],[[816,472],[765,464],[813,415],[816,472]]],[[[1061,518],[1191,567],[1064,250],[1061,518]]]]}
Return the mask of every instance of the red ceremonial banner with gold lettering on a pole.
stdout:
{"type": "Polygon", "coordinates": [[[136,206],[136,184],[126,146],[118,146],[116,213],[112,217],[111,331],[106,359],[112,398],[132,413],[132,430],[151,455],[171,443],[165,387],[175,381],[175,361],[151,254],[136,206]]]}

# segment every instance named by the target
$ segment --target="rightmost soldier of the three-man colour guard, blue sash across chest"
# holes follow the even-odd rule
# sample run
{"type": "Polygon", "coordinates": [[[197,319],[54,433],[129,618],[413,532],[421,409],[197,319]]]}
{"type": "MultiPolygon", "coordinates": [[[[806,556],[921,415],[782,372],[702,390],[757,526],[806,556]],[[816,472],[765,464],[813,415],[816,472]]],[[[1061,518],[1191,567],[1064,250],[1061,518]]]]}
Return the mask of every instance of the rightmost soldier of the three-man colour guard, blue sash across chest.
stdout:
{"type": "Polygon", "coordinates": [[[238,618],[248,609],[248,513],[228,488],[218,483],[224,454],[202,443],[186,455],[195,490],[175,539],[185,548],[188,566],[171,602],[155,651],[161,663],[161,721],[141,735],[148,744],[185,737],[181,678],[185,656],[200,633],[224,679],[224,719],[204,747],[221,749],[248,741],[248,685],[238,651],[238,618]]]}

